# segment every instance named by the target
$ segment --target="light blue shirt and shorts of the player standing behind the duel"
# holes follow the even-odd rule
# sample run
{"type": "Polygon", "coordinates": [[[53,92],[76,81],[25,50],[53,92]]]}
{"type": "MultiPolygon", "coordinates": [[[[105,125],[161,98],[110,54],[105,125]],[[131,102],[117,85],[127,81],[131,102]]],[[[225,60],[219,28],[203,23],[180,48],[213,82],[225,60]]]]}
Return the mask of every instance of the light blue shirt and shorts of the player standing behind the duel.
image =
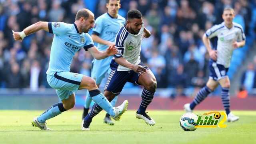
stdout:
{"type": "MultiPolygon", "coordinates": [[[[115,42],[116,34],[121,26],[125,23],[125,18],[118,14],[117,18],[113,18],[108,13],[102,14],[95,20],[94,28],[92,29],[92,34],[95,34],[102,38],[103,40],[115,42]]],[[[99,50],[106,50],[107,45],[98,44],[99,50]]],[[[110,72],[110,62],[113,56],[109,56],[102,60],[93,61],[92,74],[91,77],[94,78],[96,84],[100,84],[105,74],[110,72]]]]}

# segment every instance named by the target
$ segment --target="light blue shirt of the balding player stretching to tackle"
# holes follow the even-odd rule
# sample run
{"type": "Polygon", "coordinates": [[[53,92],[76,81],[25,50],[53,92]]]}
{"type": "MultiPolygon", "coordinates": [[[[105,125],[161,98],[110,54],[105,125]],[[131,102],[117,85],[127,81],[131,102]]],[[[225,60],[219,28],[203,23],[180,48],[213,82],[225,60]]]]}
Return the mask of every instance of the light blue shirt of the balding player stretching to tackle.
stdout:
{"type": "Polygon", "coordinates": [[[76,24],[49,22],[48,28],[49,32],[54,34],[54,38],[46,74],[69,72],[74,54],[81,48],[87,50],[94,46],[91,36],[88,33],[80,34],[76,24]]]}

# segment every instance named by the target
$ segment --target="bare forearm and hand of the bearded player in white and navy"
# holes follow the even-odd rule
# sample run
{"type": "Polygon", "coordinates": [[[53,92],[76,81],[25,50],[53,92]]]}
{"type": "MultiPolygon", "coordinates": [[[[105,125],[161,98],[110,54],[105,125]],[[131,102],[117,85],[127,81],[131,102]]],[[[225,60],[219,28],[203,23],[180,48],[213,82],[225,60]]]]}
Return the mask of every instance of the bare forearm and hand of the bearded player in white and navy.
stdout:
{"type": "Polygon", "coordinates": [[[134,72],[137,72],[139,74],[143,74],[146,73],[146,68],[140,66],[140,65],[134,65],[131,64],[130,62],[128,62],[125,58],[120,57],[120,58],[115,58],[115,62],[126,67],[126,68],[130,68],[131,70],[133,70],[134,72]]]}

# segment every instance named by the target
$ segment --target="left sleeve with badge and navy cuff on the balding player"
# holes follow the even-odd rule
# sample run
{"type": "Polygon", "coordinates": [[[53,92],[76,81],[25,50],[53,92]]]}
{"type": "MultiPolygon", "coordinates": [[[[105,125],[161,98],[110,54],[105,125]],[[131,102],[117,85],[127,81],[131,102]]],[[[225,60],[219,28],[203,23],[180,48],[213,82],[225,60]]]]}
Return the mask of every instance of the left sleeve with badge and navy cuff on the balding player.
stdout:
{"type": "Polygon", "coordinates": [[[63,35],[70,30],[71,25],[64,22],[48,22],[48,28],[51,34],[63,35]]]}

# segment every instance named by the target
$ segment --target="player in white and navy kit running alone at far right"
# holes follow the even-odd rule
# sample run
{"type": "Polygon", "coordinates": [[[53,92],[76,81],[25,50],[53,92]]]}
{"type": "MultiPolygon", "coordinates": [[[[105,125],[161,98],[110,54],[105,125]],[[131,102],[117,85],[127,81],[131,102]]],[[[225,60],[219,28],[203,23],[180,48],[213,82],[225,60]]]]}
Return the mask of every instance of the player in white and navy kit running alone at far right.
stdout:
{"type": "Polygon", "coordinates": [[[222,104],[228,115],[228,122],[234,122],[239,119],[230,112],[230,80],[227,76],[230,60],[234,49],[244,46],[245,35],[240,24],[233,22],[234,10],[225,8],[222,14],[224,22],[215,25],[203,36],[203,42],[210,54],[210,77],[204,88],[202,88],[190,104],[185,104],[184,109],[192,112],[197,104],[202,102],[220,84],[222,87],[222,104]],[[211,47],[210,39],[217,41],[216,48],[211,47]]]}

